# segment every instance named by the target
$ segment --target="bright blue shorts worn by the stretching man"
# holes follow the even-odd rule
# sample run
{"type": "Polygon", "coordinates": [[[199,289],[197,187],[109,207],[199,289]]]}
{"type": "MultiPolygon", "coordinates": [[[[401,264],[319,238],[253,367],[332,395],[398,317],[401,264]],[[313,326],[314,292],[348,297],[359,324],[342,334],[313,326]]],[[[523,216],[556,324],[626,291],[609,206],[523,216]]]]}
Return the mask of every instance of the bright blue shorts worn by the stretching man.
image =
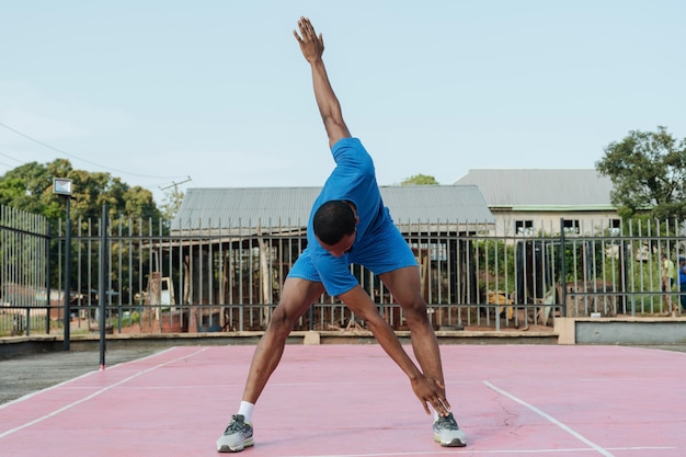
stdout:
{"type": "MultiPolygon", "coordinates": [[[[376,275],[418,266],[412,249],[402,238],[400,230],[389,220],[381,230],[367,233],[364,240],[357,240],[352,251],[345,254],[347,264],[362,265],[376,275]]],[[[312,264],[309,252],[302,251],[290,269],[288,277],[298,277],[316,283],[322,283],[319,272],[312,264]]],[[[323,282],[325,284],[325,282],[323,282]]]]}

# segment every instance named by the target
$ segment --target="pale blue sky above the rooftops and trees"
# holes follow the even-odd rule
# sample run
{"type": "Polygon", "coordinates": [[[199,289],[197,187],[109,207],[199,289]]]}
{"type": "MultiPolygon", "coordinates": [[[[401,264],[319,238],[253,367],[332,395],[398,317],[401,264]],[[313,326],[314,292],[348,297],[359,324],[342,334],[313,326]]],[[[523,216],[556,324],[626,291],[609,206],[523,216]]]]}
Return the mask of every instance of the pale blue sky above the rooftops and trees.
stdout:
{"type": "Polygon", "coordinates": [[[0,0],[0,176],[57,158],[165,192],[319,186],[334,163],[293,30],[377,181],[592,169],[686,138],[682,0],[0,0]]]}

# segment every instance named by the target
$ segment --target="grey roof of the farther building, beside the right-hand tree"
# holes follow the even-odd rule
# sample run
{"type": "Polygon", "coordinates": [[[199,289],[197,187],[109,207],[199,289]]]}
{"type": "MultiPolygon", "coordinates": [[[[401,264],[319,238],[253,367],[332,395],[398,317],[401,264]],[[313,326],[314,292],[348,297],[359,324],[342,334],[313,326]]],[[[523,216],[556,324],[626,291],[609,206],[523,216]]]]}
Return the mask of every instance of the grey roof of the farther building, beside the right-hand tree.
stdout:
{"type": "Polygon", "coordinates": [[[593,169],[469,170],[456,184],[477,185],[490,207],[615,208],[611,181],[593,169]]]}

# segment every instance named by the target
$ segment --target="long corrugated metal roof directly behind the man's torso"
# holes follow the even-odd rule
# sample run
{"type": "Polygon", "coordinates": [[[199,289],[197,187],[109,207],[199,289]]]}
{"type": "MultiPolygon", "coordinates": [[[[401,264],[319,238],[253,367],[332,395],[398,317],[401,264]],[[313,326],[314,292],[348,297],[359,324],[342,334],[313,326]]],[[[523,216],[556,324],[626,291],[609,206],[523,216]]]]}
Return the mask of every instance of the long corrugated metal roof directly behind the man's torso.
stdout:
{"type": "MultiPolygon", "coordinates": [[[[188,188],[172,230],[238,227],[305,227],[321,187],[188,188]]],[[[393,220],[402,222],[494,224],[473,185],[380,187],[393,220]]]]}

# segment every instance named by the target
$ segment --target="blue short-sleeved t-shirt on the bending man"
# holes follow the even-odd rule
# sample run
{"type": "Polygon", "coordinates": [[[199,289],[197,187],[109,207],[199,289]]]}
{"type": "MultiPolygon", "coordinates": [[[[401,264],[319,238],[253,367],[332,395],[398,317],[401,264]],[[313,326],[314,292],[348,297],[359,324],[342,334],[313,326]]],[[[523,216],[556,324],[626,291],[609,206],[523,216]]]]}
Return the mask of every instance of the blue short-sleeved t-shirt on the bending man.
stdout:
{"type": "Polygon", "coordinates": [[[359,139],[342,138],[332,146],[331,152],[336,167],[312,205],[307,225],[307,250],[327,292],[330,295],[341,295],[358,284],[350,271],[351,254],[335,258],[319,244],[312,229],[317,209],[332,199],[344,199],[355,205],[359,222],[351,253],[356,247],[364,245],[368,233],[381,230],[386,224],[392,224],[392,220],[381,201],[371,157],[359,139]]]}

